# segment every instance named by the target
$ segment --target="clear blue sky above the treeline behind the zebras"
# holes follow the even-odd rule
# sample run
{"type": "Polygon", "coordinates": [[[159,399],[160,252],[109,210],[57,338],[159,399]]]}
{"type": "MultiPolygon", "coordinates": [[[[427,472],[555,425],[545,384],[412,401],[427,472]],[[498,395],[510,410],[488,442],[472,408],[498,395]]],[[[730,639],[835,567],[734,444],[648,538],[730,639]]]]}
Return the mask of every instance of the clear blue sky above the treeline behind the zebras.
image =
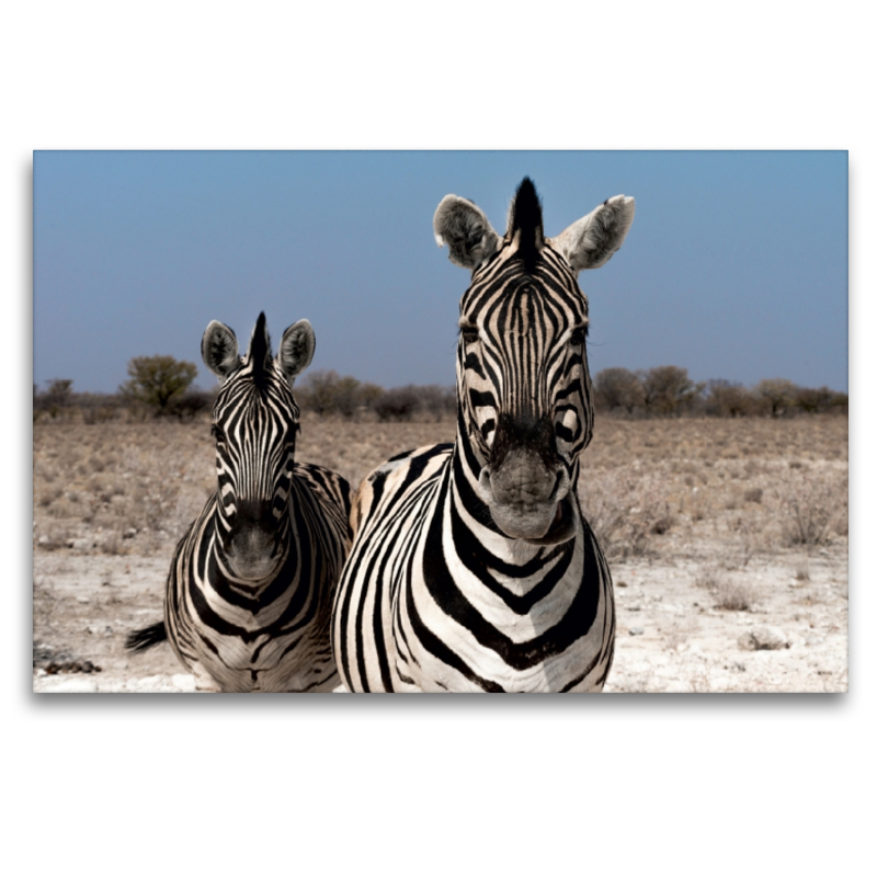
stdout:
{"type": "Polygon", "coordinates": [[[37,151],[34,381],[114,391],[132,356],[195,362],[213,319],[246,345],[307,317],[311,368],[454,380],[468,272],[432,215],[453,192],[502,232],[536,183],[556,235],[633,195],[623,249],[579,276],[592,374],[847,389],[845,151],[37,151]]]}

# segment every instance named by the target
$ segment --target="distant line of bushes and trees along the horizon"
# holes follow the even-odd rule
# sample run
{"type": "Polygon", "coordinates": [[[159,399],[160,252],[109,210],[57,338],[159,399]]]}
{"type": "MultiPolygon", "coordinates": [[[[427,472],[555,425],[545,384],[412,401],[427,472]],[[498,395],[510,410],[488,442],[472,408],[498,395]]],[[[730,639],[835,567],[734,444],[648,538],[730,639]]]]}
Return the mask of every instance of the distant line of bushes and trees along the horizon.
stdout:
{"type": "MultiPolygon", "coordinates": [[[[127,420],[155,417],[193,420],[213,407],[218,387],[192,387],[192,363],[170,356],[140,356],[128,364],[129,380],[116,394],[73,392],[72,380],[53,379],[41,390],[34,384],[34,421],[81,419],[103,423],[124,414],[127,420]]],[[[789,417],[848,412],[848,397],[828,387],[799,387],[785,378],[760,380],[752,387],[729,380],[695,384],[686,368],[662,365],[639,372],[604,368],[593,377],[597,410],[628,418],[654,417],[789,417]]],[[[456,412],[456,388],[436,385],[394,387],[315,369],[296,384],[303,411],[345,420],[442,420],[456,412]]]]}

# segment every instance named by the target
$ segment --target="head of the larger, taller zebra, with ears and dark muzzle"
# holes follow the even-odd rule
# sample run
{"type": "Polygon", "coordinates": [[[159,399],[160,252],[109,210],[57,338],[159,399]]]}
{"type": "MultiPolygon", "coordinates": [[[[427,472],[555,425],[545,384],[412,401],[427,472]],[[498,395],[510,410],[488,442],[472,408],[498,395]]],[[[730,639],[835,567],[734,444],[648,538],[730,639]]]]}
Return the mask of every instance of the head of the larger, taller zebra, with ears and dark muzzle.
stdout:
{"type": "Polygon", "coordinates": [[[617,195],[546,238],[524,178],[502,238],[466,198],[446,195],[435,212],[436,241],[472,272],[460,300],[458,441],[475,492],[510,538],[550,545],[574,535],[578,457],[593,423],[577,276],[612,258],[634,210],[634,198],[617,195]]]}

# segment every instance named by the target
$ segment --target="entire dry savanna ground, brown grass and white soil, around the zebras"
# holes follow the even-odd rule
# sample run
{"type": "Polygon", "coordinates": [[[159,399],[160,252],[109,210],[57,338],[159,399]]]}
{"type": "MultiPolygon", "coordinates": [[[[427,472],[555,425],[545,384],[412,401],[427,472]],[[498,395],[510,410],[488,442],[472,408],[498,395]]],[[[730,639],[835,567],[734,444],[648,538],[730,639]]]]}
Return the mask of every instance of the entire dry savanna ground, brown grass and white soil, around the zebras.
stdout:
{"type": "MultiPolygon", "coordinates": [[[[303,419],[297,458],[358,481],[451,420],[303,419]]],[[[847,420],[597,415],[580,483],[618,607],[607,692],[847,687],[847,420]]],[[[176,539],[215,488],[206,420],[34,423],[34,691],[193,688],[161,617],[176,539]]]]}

